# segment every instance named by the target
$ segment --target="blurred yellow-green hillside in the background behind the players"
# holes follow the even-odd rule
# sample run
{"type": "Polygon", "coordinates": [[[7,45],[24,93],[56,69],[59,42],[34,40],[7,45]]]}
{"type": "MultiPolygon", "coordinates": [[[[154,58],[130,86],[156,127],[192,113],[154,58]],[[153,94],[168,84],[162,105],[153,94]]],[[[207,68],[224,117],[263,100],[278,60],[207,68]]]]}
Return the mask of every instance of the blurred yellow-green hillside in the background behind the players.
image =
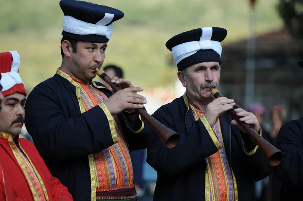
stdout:
{"type": "MultiPolygon", "coordinates": [[[[257,1],[257,33],[282,26],[277,1],[257,1]]],[[[124,18],[114,23],[104,65],[120,65],[127,79],[144,88],[170,85],[176,79],[177,69],[169,65],[171,52],[165,47],[172,36],[199,27],[220,26],[228,30],[224,45],[248,35],[248,0],[91,2],[125,13],[124,18]]],[[[0,0],[0,5],[0,51],[18,50],[20,74],[30,91],[51,77],[61,64],[63,14],[59,1],[0,0]]]]}

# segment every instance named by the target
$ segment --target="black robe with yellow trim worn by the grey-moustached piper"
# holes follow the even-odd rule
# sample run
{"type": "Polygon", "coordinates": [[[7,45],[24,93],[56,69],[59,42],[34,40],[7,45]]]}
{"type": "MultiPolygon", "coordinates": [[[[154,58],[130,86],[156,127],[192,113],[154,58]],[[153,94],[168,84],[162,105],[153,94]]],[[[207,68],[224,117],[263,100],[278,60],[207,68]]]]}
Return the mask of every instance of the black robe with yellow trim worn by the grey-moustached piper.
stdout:
{"type": "MultiPolygon", "coordinates": [[[[179,144],[172,149],[165,148],[157,138],[147,148],[147,162],[158,174],[154,200],[205,200],[205,159],[218,151],[206,123],[194,120],[186,95],[162,106],[153,116],[180,134],[179,144]]],[[[220,117],[228,163],[235,175],[238,200],[252,201],[254,181],[268,176],[272,168],[262,150],[254,152],[255,144],[231,120],[228,113],[220,117]]]]}

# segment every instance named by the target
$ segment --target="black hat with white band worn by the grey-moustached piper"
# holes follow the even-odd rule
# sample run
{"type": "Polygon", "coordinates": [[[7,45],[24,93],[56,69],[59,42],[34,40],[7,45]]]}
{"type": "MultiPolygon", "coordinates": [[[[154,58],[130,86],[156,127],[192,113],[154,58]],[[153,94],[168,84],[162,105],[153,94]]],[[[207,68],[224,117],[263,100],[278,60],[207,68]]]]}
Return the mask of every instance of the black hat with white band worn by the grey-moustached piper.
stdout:
{"type": "Polygon", "coordinates": [[[166,42],[173,53],[178,71],[201,62],[217,61],[221,64],[222,46],[227,30],[204,27],[180,33],[166,42]]]}

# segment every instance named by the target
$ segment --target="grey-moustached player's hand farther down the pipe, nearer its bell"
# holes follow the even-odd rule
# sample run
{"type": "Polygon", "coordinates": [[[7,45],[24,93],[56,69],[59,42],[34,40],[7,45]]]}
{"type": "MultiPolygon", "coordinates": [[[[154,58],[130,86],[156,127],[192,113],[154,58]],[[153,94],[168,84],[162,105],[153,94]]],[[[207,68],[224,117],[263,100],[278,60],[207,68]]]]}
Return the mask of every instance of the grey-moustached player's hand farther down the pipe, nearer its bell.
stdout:
{"type": "MultiPolygon", "coordinates": [[[[237,115],[239,117],[241,117],[240,121],[245,122],[252,129],[254,129],[257,133],[259,133],[259,131],[260,131],[260,124],[259,124],[259,121],[258,121],[257,117],[253,113],[247,112],[247,111],[245,111],[242,108],[235,109],[235,112],[237,113],[237,115]]],[[[247,133],[240,125],[238,125],[238,123],[236,122],[236,120],[232,120],[231,123],[233,125],[239,126],[239,128],[241,129],[241,131],[243,133],[247,133]]]]}

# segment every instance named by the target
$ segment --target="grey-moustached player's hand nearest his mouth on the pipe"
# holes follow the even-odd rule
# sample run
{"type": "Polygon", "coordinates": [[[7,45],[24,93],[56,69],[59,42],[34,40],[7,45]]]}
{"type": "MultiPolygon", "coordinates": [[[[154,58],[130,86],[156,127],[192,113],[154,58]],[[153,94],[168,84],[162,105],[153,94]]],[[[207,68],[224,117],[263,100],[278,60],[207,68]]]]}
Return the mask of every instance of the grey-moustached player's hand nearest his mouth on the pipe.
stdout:
{"type": "Polygon", "coordinates": [[[236,105],[236,103],[233,99],[219,97],[207,105],[204,116],[212,127],[218,121],[220,115],[225,111],[232,109],[234,105],[236,105]]]}

